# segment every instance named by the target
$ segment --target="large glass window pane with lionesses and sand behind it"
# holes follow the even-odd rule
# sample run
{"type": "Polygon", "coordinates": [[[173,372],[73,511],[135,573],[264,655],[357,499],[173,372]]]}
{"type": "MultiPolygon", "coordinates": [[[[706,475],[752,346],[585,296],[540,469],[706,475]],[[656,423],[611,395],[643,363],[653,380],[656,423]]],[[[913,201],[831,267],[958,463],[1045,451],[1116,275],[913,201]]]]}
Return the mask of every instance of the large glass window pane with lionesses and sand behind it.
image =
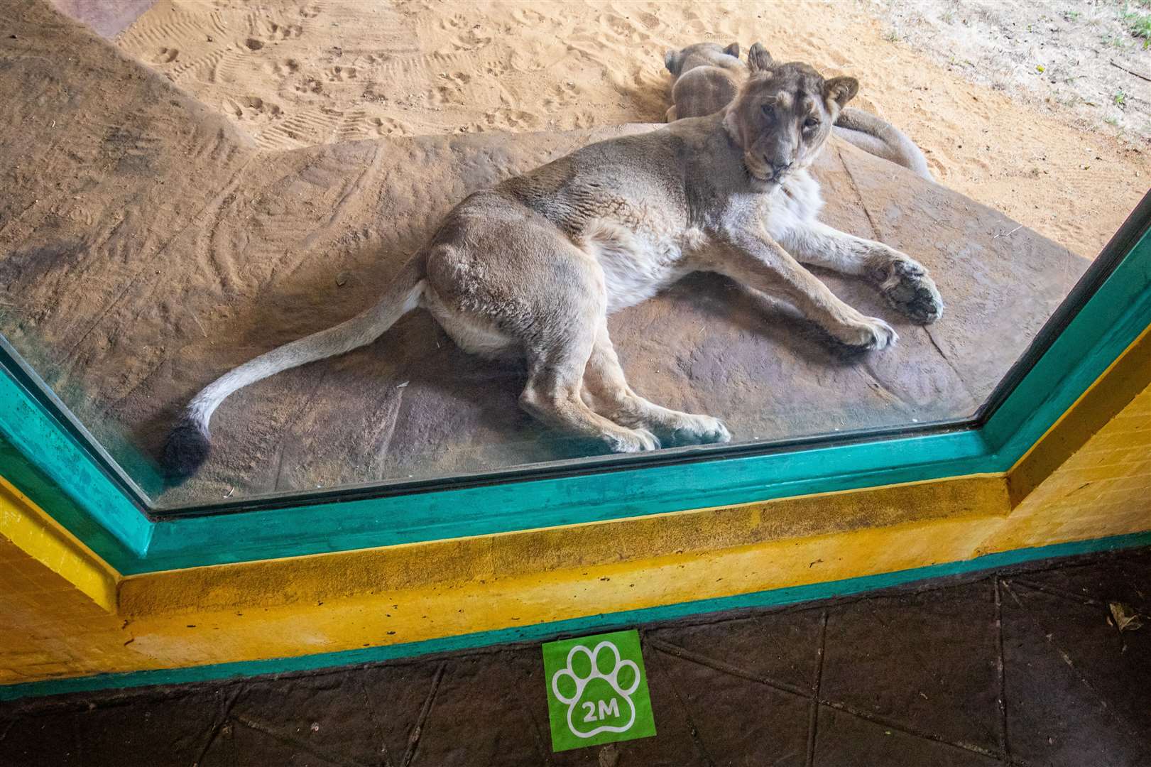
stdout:
{"type": "Polygon", "coordinates": [[[163,509],[969,420],[1151,173],[1111,6],[58,6],[0,333],[163,509]]]}

